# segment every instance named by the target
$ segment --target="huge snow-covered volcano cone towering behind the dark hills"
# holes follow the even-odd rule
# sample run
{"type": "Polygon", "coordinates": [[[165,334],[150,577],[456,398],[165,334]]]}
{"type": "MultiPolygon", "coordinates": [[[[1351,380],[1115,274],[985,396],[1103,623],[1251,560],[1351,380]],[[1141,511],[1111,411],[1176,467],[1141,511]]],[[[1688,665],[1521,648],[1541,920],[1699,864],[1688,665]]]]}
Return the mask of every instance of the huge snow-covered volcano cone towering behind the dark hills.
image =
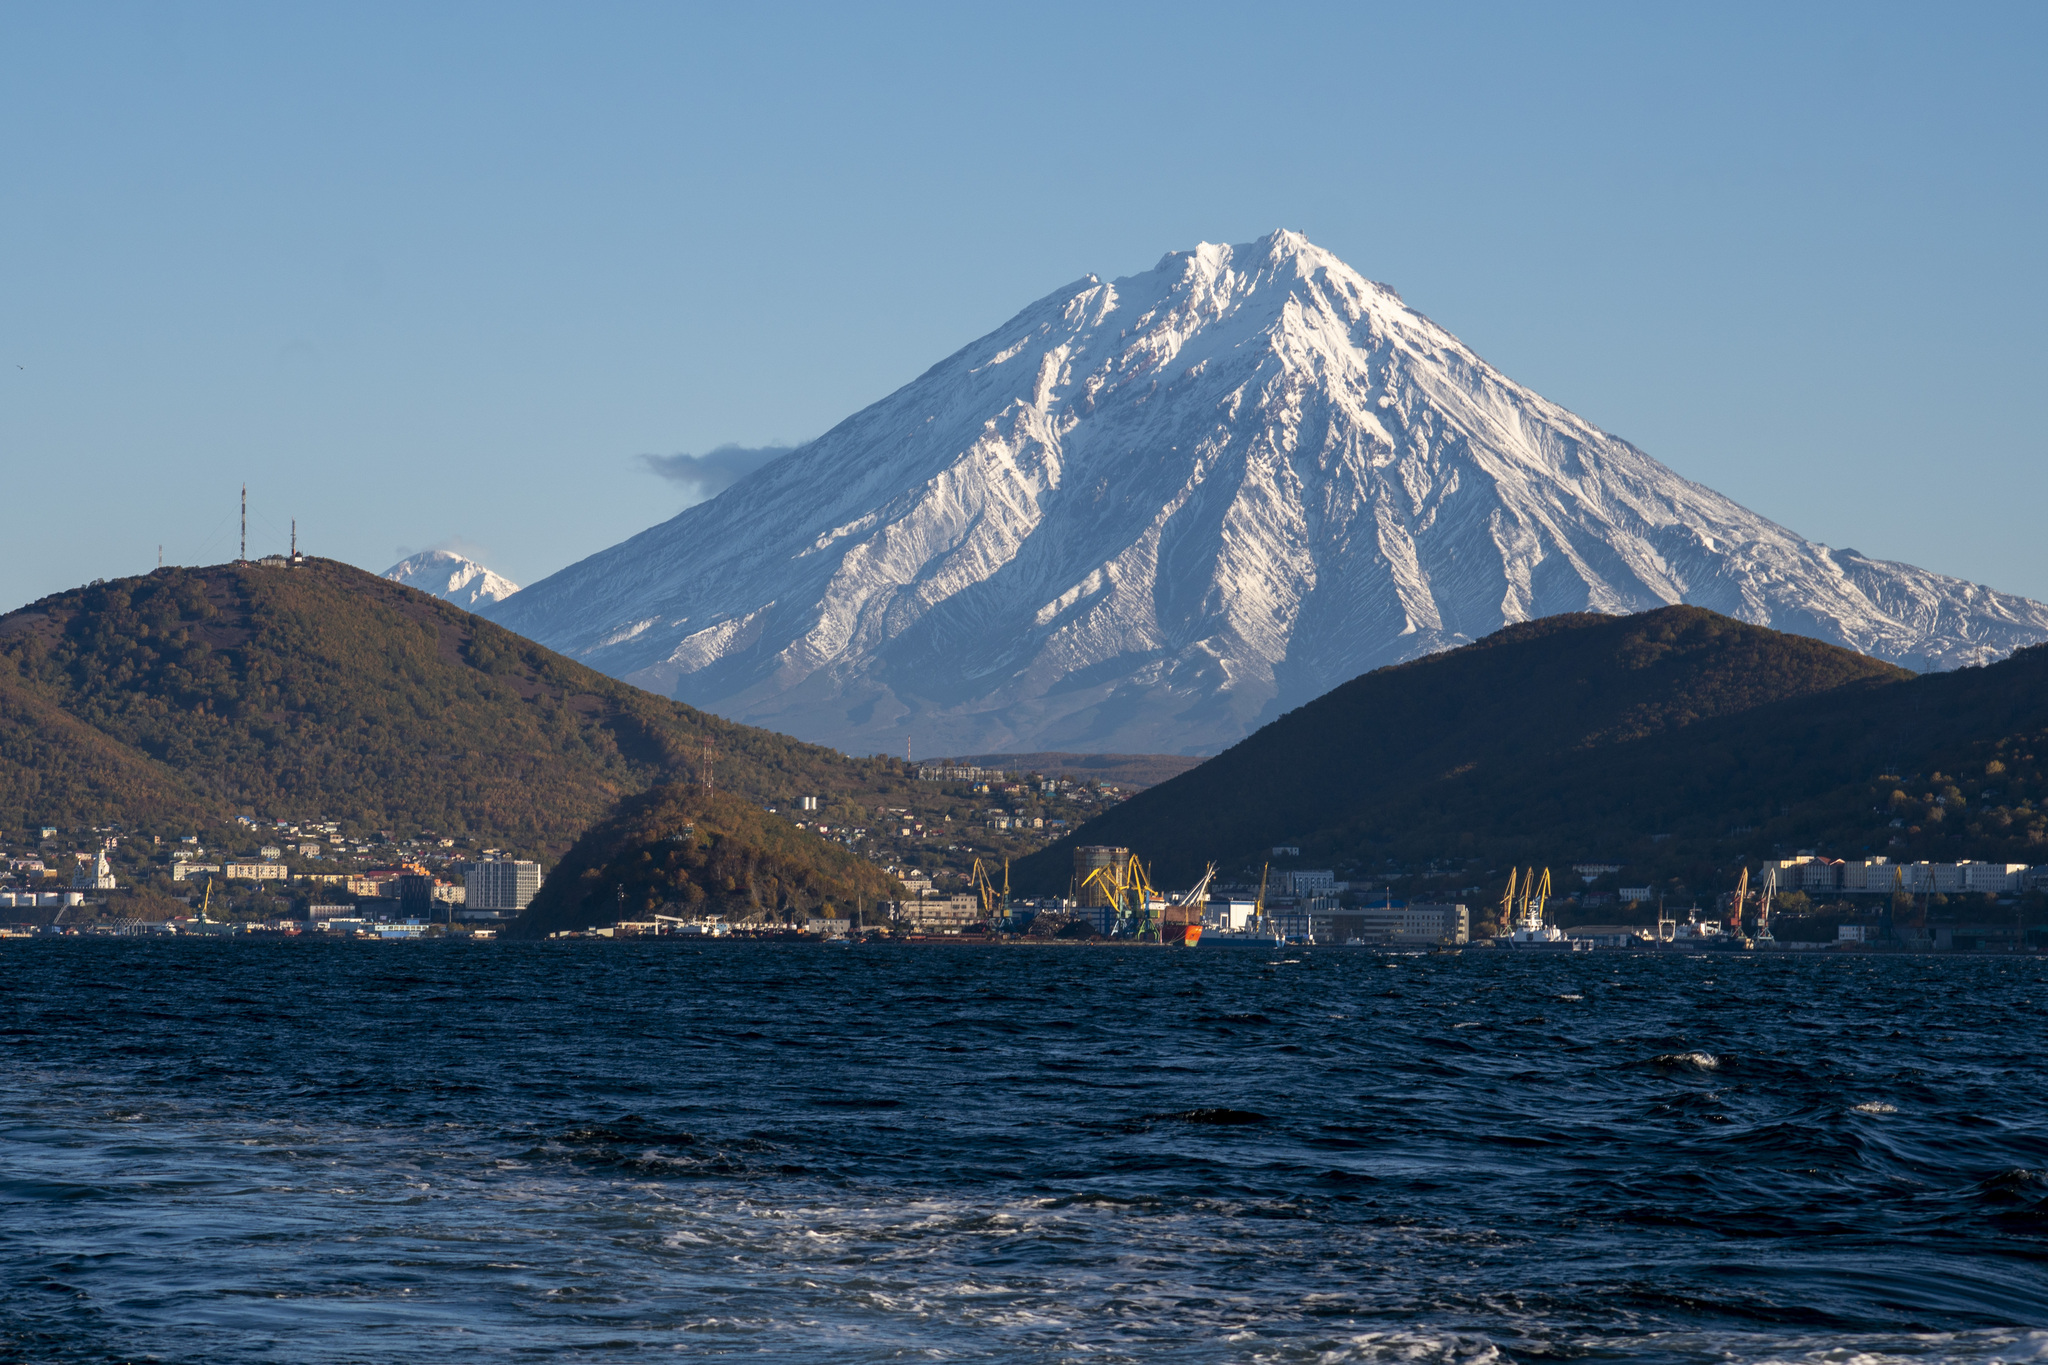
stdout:
{"type": "Polygon", "coordinates": [[[1919,669],[2048,639],[1677,477],[1286,231],[1075,280],[492,618],[844,749],[1200,753],[1507,622],[1671,602],[1919,669]]]}

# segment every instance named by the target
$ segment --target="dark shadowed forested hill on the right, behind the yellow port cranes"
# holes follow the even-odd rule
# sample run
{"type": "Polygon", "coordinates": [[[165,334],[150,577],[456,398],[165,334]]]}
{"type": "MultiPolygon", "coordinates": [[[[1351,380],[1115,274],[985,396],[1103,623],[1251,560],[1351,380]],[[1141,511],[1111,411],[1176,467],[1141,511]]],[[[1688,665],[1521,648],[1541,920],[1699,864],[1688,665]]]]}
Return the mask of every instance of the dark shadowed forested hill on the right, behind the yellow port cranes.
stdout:
{"type": "Polygon", "coordinates": [[[1626,862],[1636,876],[1821,847],[2048,860],[2048,647],[1913,675],[1700,608],[1552,616],[1378,669],[1022,860],[1073,843],[1161,880],[1272,845],[1370,872],[1626,862]],[[1898,825],[1892,825],[1898,821],[1898,825]]]}

